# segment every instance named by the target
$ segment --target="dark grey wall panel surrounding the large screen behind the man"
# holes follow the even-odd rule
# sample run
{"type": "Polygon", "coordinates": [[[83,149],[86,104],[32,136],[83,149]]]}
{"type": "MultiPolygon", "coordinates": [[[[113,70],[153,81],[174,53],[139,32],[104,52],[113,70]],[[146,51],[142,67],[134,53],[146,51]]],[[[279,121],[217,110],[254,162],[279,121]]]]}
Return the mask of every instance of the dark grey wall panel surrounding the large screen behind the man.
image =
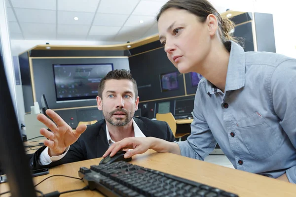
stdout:
{"type": "MultiPolygon", "coordinates": [[[[52,109],[83,107],[96,105],[96,100],[56,102],[53,76],[53,64],[113,64],[114,69],[129,69],[128,59],[123,58],[79,58],[79,59],[32,59],[35,93],[39,104],[42,94],[45,94],[48,105],[52,109]]],[[[29,102],[25,103],[26,112],[30,112],[29,102]]]]}

